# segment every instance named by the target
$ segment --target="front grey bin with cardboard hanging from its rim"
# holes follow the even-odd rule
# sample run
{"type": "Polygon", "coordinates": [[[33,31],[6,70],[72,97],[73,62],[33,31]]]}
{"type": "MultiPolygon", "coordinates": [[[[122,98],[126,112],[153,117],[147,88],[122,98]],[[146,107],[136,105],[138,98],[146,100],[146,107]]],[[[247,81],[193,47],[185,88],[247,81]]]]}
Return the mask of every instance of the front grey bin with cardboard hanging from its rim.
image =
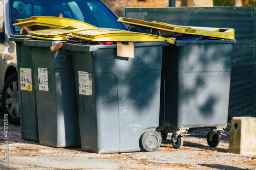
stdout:
{"type": "Polygon", "coordinates": [[[134,58],[117,45],[65,43],[72,50],[82,150],[155,151],[159,124],[162,46],[134,43],[134,58]]]}

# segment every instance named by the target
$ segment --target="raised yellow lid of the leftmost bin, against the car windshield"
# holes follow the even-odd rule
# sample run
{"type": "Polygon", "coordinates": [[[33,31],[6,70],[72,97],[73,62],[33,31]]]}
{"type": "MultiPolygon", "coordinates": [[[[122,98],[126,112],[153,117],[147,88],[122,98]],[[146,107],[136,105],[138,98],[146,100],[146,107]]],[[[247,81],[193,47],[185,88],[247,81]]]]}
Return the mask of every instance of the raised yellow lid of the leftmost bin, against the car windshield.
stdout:
{"type": "Polygon", "coordinates": [[[30,26],[48,26],[48,27],[56,27],[56,28],[96,28],[89,23],[82,22],[79,20],[62,18],[62,17],[54,17],[54,16],[32,16],[26,19],[17,19],[19,22],[14,23],[13,26],[17,28],[24,28],[30,26]]]}

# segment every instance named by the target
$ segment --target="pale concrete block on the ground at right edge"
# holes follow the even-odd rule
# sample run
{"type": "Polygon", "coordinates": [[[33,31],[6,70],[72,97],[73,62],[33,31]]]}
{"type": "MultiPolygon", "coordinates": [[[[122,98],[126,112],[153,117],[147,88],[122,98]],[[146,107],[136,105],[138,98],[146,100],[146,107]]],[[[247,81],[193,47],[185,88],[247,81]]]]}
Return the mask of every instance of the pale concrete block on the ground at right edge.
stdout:
{"type": "Polygon", "coordinates": [[[242,155],[256,154],[256,118],[233,117],[228,152],[242,155]]]}

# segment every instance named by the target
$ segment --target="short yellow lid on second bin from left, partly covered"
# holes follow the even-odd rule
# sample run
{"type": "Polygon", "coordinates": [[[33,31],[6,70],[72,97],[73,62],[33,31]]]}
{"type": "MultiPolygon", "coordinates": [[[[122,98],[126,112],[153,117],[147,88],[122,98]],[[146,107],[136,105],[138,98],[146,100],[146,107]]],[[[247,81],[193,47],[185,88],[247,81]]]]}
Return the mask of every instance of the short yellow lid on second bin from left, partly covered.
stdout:
{"type": "Polygon", "coordinates": [[[44,40],[67,40],[67,35],[70,33],[66,29],[47,29],[47,30],[36,30],[30,31],[28,37],[44,39],[44,40]]]}

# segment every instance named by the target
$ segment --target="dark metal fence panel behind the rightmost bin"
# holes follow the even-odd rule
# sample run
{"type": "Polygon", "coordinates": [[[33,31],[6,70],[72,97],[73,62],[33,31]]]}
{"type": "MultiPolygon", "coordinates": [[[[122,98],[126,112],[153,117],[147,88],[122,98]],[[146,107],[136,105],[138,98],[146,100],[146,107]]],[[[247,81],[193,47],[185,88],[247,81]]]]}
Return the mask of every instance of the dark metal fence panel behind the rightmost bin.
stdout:
{"type": "Polygon", "coordinates": [[[256,117],[255,7],[125,8],[124,17],[235,30],[229,116],[256,117]]]}

